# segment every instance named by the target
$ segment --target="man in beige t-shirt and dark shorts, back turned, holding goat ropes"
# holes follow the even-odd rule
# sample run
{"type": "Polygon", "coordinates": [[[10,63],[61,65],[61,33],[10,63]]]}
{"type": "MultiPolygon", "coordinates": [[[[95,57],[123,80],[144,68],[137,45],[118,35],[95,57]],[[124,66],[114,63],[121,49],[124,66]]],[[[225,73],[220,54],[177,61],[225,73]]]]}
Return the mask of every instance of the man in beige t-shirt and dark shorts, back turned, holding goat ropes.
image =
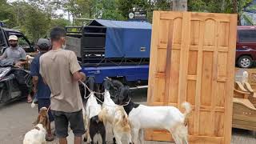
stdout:
{"type": "Polygon", "coordinates": [[[73,51],[62,50],[66,32],[61,27],[50,31],[52,50],[40,58],[40,74],[50,87],[50,109],[54,115],[56,136],[66,144],[68,125],[74,133],[74,144],[81,144],[85,127],[82,119],[82,97],[78,81],[86,78],[73,51]]]}

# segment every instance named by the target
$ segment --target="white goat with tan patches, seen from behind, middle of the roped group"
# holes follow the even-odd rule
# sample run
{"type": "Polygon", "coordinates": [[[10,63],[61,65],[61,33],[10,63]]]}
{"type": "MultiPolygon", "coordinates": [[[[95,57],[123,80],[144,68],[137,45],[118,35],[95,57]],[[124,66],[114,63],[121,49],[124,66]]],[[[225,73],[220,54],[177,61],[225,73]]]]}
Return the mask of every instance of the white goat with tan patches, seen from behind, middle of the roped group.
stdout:
{"type": "Polygon", "coordinates": [[[127,138],[127,142],[131,143],[130,124],[128,116],[122,106],[116,105],[110,98],[110,92],[105,90],[103,109],[98,118],[104,124],[109,124],[110,129],[113,130],[114,138],[118,144],[122,144],[122,137],[127,138]]]}

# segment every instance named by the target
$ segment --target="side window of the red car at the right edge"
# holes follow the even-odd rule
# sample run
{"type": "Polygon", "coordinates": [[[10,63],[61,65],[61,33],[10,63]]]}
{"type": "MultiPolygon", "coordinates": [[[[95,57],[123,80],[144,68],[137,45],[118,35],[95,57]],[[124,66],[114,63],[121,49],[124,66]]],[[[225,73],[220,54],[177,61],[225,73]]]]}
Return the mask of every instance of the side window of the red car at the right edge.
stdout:
{"type": "Polygon", "coordinates": [[[256,42],[256,30],[238,30],[239,42],[256,42]]]}

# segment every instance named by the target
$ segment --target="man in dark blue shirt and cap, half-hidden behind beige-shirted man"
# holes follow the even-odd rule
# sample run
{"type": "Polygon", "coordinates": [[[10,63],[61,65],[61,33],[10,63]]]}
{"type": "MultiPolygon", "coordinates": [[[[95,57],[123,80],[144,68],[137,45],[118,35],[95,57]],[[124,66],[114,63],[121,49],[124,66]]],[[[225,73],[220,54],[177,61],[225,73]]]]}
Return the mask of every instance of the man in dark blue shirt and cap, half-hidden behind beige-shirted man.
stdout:
{"type": "MultiPolygon", "coordinates": [[[[42,107],[49,108],[50,106],[50,88],[47,86],[42,79],[42,75],[39,74],[40,64],[39,58],[42,54],[46,53],[50,50],[50,41],[46,38],[39,38],[36,44],[37,49],[39,50],[39,54],[34,57],[31,66],[30,66],[30,75],[33,77],[34,84],[34,94],[38,98],[38,112],[42,107]]],[[[50,122],[54,121],[54,117],[51,114],[50,110],[48,110],[49,120],[50,122]]],[[[51,134],[51,131],[48,130],[46,134],[46,141],[53,141],[54,136],[51,134]]]]}

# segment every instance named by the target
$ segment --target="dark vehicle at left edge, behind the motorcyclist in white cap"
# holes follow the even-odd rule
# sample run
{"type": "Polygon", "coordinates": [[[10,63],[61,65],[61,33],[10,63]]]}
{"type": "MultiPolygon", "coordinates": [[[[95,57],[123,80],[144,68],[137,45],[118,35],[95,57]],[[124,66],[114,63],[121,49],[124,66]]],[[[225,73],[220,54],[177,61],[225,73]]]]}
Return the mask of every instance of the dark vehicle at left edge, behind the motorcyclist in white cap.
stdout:
{"type": "Polygon", "coordinates": [[[22,48],[27,52],[34,52],[34,45],[30,43],[30,41],[26,38],[21,31],[14,29],[7,29],[0,26],[0,55],[6,49],[6,47],[10,46],[8,42],[8,38],[10,35],[16,35],[18,37],[18,44],[22,46],[22,48]]]}

